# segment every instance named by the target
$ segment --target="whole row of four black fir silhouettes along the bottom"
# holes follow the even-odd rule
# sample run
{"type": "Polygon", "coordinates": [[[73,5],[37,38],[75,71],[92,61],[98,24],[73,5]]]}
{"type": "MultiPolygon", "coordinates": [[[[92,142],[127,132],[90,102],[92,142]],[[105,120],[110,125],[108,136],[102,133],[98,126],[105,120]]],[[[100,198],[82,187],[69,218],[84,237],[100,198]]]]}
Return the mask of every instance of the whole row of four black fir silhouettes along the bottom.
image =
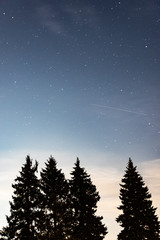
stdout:
{"type": "MultiPolygon", "coordinates": [[[[77,158],[71,179],[65,178],[51,156],[37,177],[38,162],[30,156],[13,187],[7,226],[1,240],[103,240],[107,227],[97,216],[100,195],[77,158]]],[[[118,240],[158,240],[160,222],[151,194],[133,161],[129,159],[120,184],[122,227],[118,240]]]]}

